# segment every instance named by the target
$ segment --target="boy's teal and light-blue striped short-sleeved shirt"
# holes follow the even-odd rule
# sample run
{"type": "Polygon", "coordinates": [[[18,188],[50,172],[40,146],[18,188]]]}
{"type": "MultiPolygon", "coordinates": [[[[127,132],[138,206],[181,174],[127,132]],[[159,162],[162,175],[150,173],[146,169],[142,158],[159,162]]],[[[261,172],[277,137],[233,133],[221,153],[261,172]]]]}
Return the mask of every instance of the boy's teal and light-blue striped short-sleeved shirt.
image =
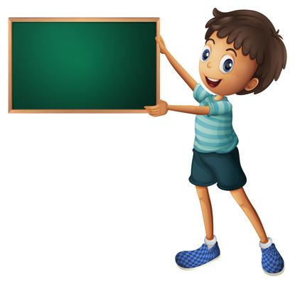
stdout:
{"type": "Polygon", "coordinates": [[[195,116],[195,142],[193,148],[202,153],[228,153],[239,142],[232,128],[232,104],[227,97],[215,101],[215,95],[208,93],[200,84],[193,89],[193,97],[200,106],[210,107],[210,113],[195,116]]]}

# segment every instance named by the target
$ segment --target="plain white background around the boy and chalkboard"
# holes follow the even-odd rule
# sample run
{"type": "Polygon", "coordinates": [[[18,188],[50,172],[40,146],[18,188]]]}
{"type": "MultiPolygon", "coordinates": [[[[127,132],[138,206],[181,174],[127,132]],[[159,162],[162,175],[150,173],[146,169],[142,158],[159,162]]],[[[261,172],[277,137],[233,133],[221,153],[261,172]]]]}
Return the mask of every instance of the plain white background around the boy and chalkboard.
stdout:
{"type": "MultiPolygon", "coordinates": [[[[294,10],[291,1],[1,1],[0,283],[291,283],[294,278],[294,10]],[[290,3],[290,4],[289,4],[290,3]],[[278,82],[230,97],[245,191],[286,262],[270,277],[259,239],[229,192],[210,187],[218,261],[182,271],[178,251],[205,231],[188,182],[194,116],[8,114],[9,17],[161,18],[161,35],[196,80],[212,10],[253,9],[279,28],[278,82]]],[[[140,96],[140,94],[138,94],[140,96]]],[[[195,104],[161,55],[161,98],[195,104]]]]}

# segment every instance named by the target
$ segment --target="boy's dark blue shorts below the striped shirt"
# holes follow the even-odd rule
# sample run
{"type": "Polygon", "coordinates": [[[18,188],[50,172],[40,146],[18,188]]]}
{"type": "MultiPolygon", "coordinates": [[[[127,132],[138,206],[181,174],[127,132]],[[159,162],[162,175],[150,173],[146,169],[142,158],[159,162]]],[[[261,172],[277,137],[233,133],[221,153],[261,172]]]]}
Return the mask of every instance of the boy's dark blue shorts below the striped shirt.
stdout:
{"type": "Polygon", "coordinates": [[[191,176],[193,185],[209,186],[217,182],[221,190],[237,190],[247,182],[237,147],[229,153],[200,153],[193,148],[191,176]]]}

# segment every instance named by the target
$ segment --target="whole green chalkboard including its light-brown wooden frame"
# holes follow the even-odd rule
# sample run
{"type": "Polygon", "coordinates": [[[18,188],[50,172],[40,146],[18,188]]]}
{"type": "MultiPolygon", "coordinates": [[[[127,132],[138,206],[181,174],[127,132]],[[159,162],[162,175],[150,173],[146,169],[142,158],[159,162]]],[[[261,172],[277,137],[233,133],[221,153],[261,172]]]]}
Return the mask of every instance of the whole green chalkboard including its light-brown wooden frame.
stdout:
{"type": "Polygon", "coordinates": [[[159,101],[159,18],[72,20],[9,19],[9,112],[145,112],[159,101]]]}

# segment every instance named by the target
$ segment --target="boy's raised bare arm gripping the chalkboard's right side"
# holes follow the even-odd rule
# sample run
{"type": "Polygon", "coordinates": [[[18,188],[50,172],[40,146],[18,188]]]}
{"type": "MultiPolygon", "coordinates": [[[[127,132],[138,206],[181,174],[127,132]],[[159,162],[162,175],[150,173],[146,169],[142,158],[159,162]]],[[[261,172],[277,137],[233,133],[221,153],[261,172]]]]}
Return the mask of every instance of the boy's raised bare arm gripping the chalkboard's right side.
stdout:
{"type": "Polygon", "coordinates": [[[188,84],[188,87],[193,90],[197,82],[193,79],[193,77],[191,77],[191,75],[188,74],[188,72],[186,72],[186,70],[177,62],[177,60],[173,58],[171,53],[168,52],[161,35],[159,38],[156,38],[156,42],[159,44],[160,52],[166,55],[166,58],[171,63],[176,72],[178,72],[186,84],[188,84]]]}

